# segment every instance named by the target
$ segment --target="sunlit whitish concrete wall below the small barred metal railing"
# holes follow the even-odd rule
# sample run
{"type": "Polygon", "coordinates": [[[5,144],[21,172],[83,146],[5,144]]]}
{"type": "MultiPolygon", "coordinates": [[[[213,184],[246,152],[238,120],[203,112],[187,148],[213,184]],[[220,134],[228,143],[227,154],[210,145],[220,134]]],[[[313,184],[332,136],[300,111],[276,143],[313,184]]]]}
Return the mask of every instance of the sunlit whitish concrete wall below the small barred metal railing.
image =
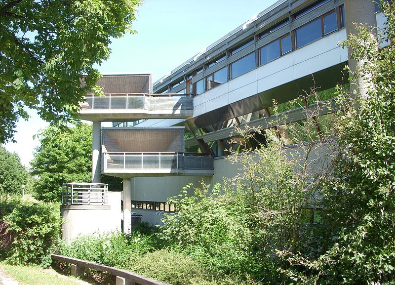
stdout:
{"type": "Polygon", "coordinates": [[[120,231],[120,192],[108,192],[108,205],[62,205],[60,211],[66,243],[79,235],[120,231]]]}

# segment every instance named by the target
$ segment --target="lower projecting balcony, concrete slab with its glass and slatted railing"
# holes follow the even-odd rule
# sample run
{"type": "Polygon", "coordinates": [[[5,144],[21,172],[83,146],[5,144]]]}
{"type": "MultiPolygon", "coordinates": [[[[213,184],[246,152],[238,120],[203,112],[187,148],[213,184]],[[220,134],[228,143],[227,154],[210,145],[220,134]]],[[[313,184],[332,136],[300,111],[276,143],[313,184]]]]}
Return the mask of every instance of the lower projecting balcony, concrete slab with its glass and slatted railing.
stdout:
{"type": "Polygon", "coordinates": [[[209,154],[179,152],[103,152],[102,172],[130,178],[135,176],[211,176],[213,157],[209,154]]]}

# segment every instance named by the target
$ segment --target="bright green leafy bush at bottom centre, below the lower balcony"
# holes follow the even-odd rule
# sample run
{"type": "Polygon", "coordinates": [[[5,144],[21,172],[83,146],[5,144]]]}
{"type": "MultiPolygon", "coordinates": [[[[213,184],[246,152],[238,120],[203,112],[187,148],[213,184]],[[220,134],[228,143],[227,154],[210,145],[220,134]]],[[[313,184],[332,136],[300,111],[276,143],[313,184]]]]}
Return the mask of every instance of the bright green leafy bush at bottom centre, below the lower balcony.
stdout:
{"type": "Polygon", "coordinates": [[[210,194],[204,184],[192,197],[184,191],[169,200],[178,210],[166,215],[161,237],[215,271],[251,272],[253,237],[242,199],[233,191],[221,195],[219,185],[210,194]]]}

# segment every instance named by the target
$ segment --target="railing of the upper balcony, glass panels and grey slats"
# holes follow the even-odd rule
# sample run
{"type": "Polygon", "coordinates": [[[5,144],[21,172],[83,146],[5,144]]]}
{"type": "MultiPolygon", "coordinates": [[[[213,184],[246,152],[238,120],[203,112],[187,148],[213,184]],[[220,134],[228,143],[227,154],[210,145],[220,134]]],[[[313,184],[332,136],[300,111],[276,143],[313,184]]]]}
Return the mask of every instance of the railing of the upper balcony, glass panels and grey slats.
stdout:
{"type": "Polygon", "coordinates": [[[105,96],[87,94],[85,102],[80,103],[84,110],[147,110],[176,111],[193,110],[191,94],[145,94],[117,93],[105,96]]]}

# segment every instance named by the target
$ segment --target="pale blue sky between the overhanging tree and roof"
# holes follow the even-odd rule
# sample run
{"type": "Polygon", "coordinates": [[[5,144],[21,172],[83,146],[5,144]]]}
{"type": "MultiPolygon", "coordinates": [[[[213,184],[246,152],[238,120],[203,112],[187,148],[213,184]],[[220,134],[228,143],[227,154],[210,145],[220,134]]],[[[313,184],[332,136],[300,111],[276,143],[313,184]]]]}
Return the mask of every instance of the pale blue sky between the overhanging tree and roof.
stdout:
{"type": "MultiPolygon", "coordinates": [[[[110,59],[96,68],[101,73],[152,71],[155,82],[275,2],[145,0],[133,23],[137,34],[113,39],[110,59]]],[[[17,123],[17,142],[5,145],[27,167],[40,145],[33,136],[48,125],[34,111],[29,114],[28,121],[17,123]]]]}

